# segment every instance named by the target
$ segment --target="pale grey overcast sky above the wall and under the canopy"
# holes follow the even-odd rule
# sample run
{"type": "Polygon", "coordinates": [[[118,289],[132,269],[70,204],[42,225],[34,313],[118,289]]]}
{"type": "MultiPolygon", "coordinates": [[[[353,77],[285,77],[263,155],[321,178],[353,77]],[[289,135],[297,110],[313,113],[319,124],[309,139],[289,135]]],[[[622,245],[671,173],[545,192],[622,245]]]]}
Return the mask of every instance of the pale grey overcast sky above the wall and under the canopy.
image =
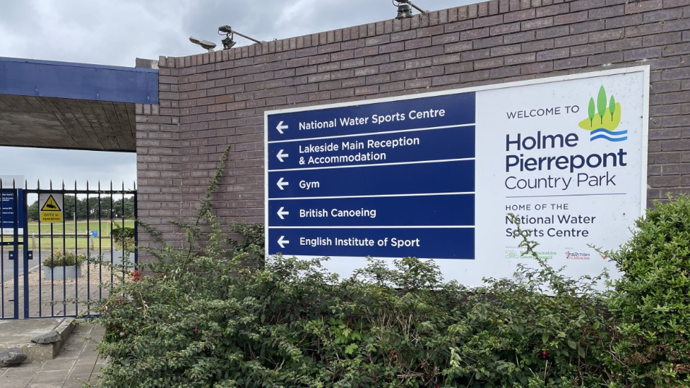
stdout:
{"type": "MultiPolygon", "coordinates": [[[[468,0],[415,0],[428,10],[468,0]]],[[[214,41],[219,25],[257,40],[295,37],[395,17],[391,0],[0,0],[0,56],[134,66],[136,57],[203,52],[190,35],[214,41]]],[[[416,11],[415,11],[416,13],[416,11]]],[[[238,46],[249,44],[236,37],[238,46]]],[[[0,132],[2,128],[0,128],[0,132]]],[[[35,185],[136,180],[131,153],[0,147],[0,175],[35,185]]]]}

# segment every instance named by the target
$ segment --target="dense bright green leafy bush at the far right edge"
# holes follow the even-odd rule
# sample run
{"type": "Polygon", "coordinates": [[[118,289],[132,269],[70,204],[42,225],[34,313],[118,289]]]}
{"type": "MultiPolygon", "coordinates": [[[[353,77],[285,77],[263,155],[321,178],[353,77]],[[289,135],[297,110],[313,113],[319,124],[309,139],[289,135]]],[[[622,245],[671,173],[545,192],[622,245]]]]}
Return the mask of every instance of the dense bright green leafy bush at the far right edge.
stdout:
{"type": "Polygon", "coordinates": [[[629,387],[690,386],[690,198],[655,204],[618,252],[624,272],[609,309],[617,320],[612,368],[629,387]]]}

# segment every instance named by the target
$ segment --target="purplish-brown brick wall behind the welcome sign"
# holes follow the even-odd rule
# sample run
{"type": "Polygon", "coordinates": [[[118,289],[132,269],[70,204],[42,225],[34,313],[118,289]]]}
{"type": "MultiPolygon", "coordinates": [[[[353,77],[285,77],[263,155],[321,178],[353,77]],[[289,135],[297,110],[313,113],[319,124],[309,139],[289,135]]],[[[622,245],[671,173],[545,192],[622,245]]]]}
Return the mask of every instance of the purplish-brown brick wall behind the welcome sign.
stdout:
{"type": "Polygon", "coordinates": [[[263,111],[648,65],[648,198],[690,193],[690,0],[494,0],[214,53],[160,58],[137,107],[139,214],[194,208],[221,152],[226,221],[263,222],[263,111]]]}

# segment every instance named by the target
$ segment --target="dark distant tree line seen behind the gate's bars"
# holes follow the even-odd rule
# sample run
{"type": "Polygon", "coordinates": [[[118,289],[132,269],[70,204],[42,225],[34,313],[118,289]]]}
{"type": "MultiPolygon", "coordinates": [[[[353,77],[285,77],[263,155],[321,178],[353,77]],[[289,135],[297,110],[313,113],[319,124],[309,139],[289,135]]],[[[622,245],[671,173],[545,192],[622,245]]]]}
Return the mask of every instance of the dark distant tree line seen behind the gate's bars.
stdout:
{"type": "MultiPolygon", "coordinates": [[[[66,221],[74,217],[76,207],[77,219],[110,219],[110,218],[133,218],[134,217],[134,198],[119,198],[113,200],[112,197],[101,197],[100,207],[99,198],[76,198],[74,195],[64,196],[64,214],[66,221]]],[[[30,221],[38,221],[38,201],[33,202],[28,207],[27,217],[30,221]]]]}

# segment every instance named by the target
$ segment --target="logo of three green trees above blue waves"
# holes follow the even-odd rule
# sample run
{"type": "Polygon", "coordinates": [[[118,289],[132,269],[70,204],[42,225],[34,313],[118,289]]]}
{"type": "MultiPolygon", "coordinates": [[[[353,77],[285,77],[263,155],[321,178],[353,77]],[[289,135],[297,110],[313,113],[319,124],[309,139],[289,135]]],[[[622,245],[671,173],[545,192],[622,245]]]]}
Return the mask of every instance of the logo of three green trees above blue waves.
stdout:
{"type": "Polygon", "coordinates": [[[604,86],[599,88],[597,101],[590,97],[587,119],[580,121],[580,128],[590,131],[590,141],[608,140],[621,142],[628,139],[628,131],[616,131],[621,123],[621,104],[611,95],[607,99],[604,86]]]}

